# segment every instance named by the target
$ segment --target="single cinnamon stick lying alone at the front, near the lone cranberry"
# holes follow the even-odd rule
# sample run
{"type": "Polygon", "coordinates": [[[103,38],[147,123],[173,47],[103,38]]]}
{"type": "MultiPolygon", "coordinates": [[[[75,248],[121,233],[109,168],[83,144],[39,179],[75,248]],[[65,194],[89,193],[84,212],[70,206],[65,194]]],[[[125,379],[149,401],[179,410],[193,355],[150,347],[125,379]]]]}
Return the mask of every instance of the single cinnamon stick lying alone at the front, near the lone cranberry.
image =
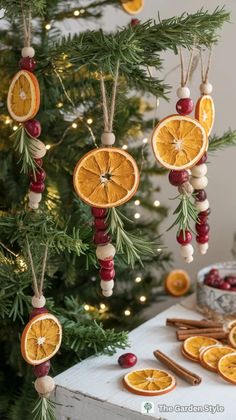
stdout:
{"type": "Polygon", "coordinates": [[[201,383],[202,379],[200,376],[179,365],[170,357],[162,353],[160,350],[155,350],[153,354],[156,357],[156,359],[158,359],[161,363],[167,366],[176,375],[180,376],[184,381],[190,383],[191,385],[199,385],[201,383]]]}

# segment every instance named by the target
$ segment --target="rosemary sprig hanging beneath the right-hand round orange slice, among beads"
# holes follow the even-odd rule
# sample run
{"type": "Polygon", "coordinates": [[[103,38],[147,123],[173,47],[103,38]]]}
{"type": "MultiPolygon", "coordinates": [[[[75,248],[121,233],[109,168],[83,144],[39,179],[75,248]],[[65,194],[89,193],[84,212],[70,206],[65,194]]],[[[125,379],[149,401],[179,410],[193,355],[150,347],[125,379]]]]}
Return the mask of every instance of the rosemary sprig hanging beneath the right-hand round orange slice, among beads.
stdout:
{"type": "Polygon", "coordinates": [[[198,210],[196,209],[194,203],[191,200],[191,196],[187,194],[180,194],[174,198],[178,199],[180,202],[177,208],[174,211],[174,215],[177,215],[174,223],[167,229],[171,230],[174,226],[178,225],[178,232],[181,230],[185,232],[187,229],[192,230],[191,221],[197,222],[198,219],[198,210]]]}

